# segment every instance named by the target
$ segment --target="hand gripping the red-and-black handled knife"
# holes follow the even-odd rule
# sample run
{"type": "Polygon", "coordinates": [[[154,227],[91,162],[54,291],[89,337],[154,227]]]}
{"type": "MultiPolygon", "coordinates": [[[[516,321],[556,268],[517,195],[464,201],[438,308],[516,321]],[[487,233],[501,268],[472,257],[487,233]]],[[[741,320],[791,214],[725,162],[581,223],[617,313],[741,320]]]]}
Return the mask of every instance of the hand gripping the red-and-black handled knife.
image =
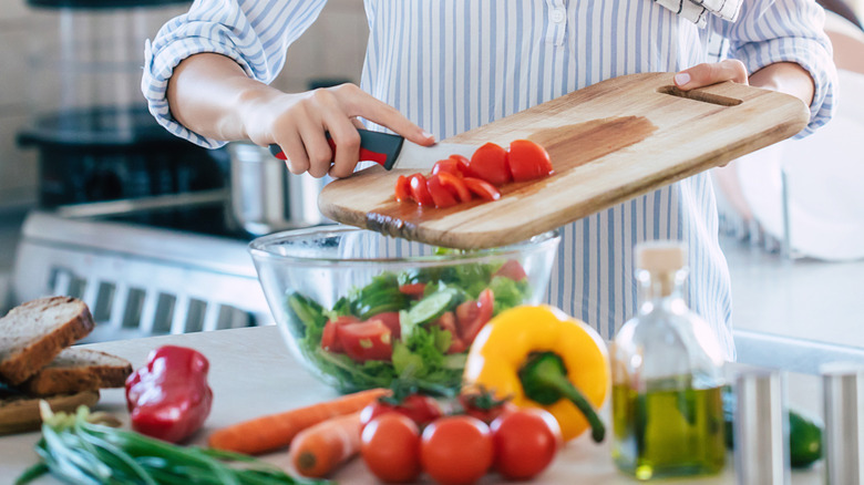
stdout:
{"type": "Polygon", "coordinates": [[[298,94],[263,90],[249,96],[245,105],[241,117],[246,135],[261,146],[278,144],[292,174],[351,175],[360,153],[357,127],[362,125],[358,116],[387,126],[414,143],[434,143],[432,135],[354,84],[298,94]],[[325,132],[330,133],[338,147],[335,158],[325,132]]]}

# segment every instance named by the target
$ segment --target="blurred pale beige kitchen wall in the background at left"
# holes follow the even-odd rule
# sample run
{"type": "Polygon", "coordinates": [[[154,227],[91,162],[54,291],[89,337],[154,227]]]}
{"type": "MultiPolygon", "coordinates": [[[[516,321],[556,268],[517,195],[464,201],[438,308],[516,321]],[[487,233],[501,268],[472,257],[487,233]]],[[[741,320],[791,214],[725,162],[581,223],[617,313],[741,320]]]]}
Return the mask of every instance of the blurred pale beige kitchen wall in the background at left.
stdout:
{"type": "MultiPolygon", "coordinates": [[[[174,11],[168,9],[166,14],[174,11]]],[[[37,152],[19,148],[16,135],[38,105],[32,94],[35,83],[62,82],[51,80],[50,72],[35,72],[28,63],[31,52],[56,41],[56,16],[51,11],[32,10],[24,0],[0,0],[0,209],[35,202],[37,152]]],[[[300,91],[317,78],[359,82],[367,34],[360,0],[330,0],[318,22],[289,49],[286,69],[274,84],[300,91]]],[[[137,85],[134,89],[137,92],[137,85]]]]}

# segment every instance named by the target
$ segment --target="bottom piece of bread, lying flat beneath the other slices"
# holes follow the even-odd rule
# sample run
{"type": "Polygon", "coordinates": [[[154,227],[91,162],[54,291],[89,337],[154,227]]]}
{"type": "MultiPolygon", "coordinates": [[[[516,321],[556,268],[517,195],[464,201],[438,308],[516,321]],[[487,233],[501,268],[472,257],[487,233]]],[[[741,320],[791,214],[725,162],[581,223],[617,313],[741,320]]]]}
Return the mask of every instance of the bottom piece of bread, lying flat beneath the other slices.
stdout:
{"type": "Polygon", "coordinates": [[[82,404],[92,407],[99,401],[99,391],[51,398],[17,395],[0,399],[0,435],[39,430],[39,426],[42,425],[39,401],[42,399],[48,401],[54,412],[73,413],[82,404]]]}

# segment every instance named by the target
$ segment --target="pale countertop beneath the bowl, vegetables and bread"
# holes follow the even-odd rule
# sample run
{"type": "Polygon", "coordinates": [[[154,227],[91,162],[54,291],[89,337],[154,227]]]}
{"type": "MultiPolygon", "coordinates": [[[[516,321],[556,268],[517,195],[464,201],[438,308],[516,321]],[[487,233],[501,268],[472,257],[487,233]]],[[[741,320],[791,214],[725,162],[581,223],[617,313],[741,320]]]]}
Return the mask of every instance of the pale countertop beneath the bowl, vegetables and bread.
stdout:
{"type": "MultiPolygon", "coordinates": [[[[144,364],[147,353],[162,344],[186,345],[197,349],[210,361],[209,383],[214,392],[213,411],[204,430],[196,434],[194,442],[203,444],[209,432],[261,414],[270,414],[292,407],[313,404],[332,399],[336,391],[318,382],[297,361],[285,345],[276,327],[258,327],[213,332],[187,333],[179,336],[154,337],[147,339],[122,340],[86,345],[128,359],[133,367],[144,364]]],[[[796,407],[815,412],[819,410],[819,379],[813,375],[789,374],[789,399],[796,407]]],[[[607,401],[608,402],[608,401],[607,401]]],[[[113,413],[121,420],[127,420],[123,390],[113,389],[102,392],[96,409],[113,413]]],[[[608,405],[601,410],[606,422],[608,405]]],[[[39,433],[13,436],[0,436],[0,484],[11,484],[14,477],[35,463],[33,444],[39,433]]],[[[288,466],[288,454],[277,452],[264,456],[265,460],[280,466],[288,466]]],[[[792,473],[792,484],[821,484],[822,462],[806,471],[792,473]]],[[[361,460],[353,460],[331,478],[344,484],[378,484],[373,475],[367,472],[361,460]]],[[[502,479],[488,474],[482,484],[498,483],[502,479]]],[[[664,481],[658,481],[662,483],[664,481]]],[[[680,478],[669,481],[685,483],[680,478]]],[[[38,484],[55,484],[48,477],[38,484]]],[[[431,483],[424,478],[424,483],[431,483]]],[[[609,452],[609,441],[594,445],[586,433],[567,443],[553,465],[534,483],[562,484],[635,484],[639,483],[620,474],[614,466],[609,452]]],[[[655,482],[656,483],[656,482],[655,482]]],[[[734,484],[732,455],[724,473],[707,478],[686,478],[686,483],[734,484]]]]}

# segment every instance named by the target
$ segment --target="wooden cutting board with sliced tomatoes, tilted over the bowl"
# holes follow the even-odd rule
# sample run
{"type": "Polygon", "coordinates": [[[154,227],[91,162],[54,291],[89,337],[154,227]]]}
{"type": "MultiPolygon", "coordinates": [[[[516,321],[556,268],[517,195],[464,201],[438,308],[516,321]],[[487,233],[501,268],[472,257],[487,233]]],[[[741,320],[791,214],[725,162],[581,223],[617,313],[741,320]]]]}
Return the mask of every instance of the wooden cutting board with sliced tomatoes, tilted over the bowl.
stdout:
{"type": "Polygon", "coordinates": [[[672,75],[615,78],[448,138],[504,147],[528,138],[548,151],[552,176],[506,185],[496,202],[398,203],[397,177],[413,171],[374,166],[328,184],[319,208],[339,223],[436,246],[504,246],[788,138],[810,117],[786,94],[731,82],[681,92],[672,75]]]}

